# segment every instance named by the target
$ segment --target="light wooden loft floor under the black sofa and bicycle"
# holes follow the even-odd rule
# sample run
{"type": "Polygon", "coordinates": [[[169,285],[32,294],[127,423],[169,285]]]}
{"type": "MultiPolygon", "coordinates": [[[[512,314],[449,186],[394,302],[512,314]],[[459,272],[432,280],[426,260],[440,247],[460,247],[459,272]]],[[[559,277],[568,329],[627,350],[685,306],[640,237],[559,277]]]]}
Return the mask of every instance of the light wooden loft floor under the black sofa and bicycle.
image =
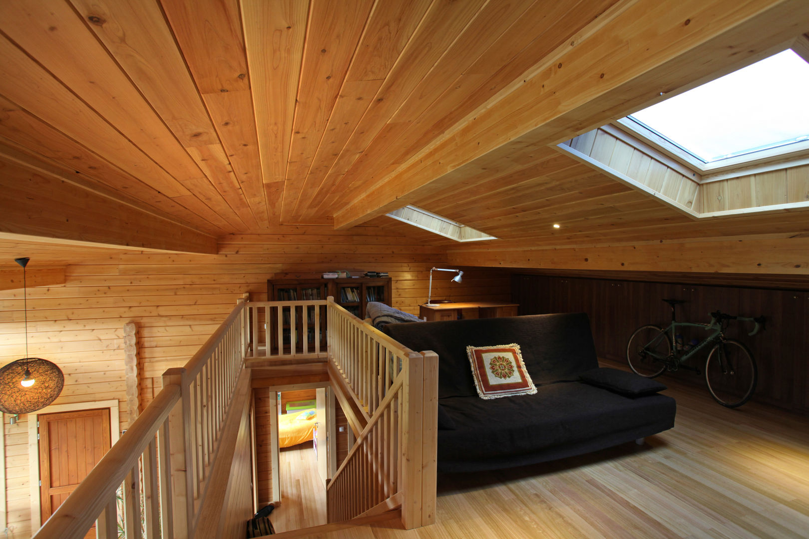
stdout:
{"type": "Polygon", "coordinates": [[[809,418],[661,381],[676,427],[599,453],[438,476],[437,524],[395,522],[316,537],[809,537],[809,418]]]}

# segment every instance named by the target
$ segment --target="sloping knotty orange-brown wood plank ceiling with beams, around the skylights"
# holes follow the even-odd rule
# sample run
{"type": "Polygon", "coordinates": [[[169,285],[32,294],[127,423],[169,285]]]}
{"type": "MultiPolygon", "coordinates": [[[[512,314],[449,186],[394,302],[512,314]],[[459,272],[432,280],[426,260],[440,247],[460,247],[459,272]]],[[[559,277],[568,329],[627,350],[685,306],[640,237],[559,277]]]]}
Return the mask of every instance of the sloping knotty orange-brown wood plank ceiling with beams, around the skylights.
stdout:
{"type": "Polygon", "coordinates": [[[553,149],[807,30],[801,0],[3,0],[0,242],[215,252],[405,204],[503,245],[809,232],[553,149]]]}

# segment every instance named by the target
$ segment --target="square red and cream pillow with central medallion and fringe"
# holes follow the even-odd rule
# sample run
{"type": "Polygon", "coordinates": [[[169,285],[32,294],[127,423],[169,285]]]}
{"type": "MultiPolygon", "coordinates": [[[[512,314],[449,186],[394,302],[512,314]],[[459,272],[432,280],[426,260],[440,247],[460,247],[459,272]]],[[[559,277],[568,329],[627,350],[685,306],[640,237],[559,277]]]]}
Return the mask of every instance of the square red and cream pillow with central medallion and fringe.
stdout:
{"type": "Polygon", "coordinates": [[[532,395],[536,386],[528,376],[519,352],[519,344],[468,346],[466,353],[472,365],[475,388],[481,398],[532,395]]]}

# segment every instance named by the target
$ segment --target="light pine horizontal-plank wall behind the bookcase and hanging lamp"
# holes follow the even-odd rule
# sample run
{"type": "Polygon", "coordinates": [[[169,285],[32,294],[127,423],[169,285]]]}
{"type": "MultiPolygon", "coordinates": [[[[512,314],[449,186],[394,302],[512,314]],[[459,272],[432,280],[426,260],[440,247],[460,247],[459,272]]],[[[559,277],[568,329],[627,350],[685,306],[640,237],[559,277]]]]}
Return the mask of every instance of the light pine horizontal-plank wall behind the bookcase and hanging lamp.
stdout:
{"type": "MultiPolygon", "coordinates": [[[[66,387],[56,404],[118,398],[121,428],[126,428],[126,322],[138,326],[140,396],[146,406],[159,392],[163,371],[185,364],[242,293],[266,299],[268,279],[311,277],[332,269],[387,271],[393,306],[417,314],[417,305],[426,301],[430,267],[446,267],[445,251],[423,235],[376,226],[347,232],[289,226],[272,234],[221,238],[218,255],[114,253],[87,262],[77,259],[66,267],[66,284],[29,288],[29,354],[53,360],[65,372],[66,387]]],[[[29,267],[36,267],[36,259],[29,267]]],[[[464,272],[461,284],[436,279],[434,297],[508,299],[507,273],[472,267],[464,272]]],[[[0,364],[24,357],[20,289],[0,291],[0,343],[0,364]]],[[[13,426],[6,418],[4,428],[8,522],[15,539],[25,539],[31,535],[27,418],[21,416],[13,426]]]]}

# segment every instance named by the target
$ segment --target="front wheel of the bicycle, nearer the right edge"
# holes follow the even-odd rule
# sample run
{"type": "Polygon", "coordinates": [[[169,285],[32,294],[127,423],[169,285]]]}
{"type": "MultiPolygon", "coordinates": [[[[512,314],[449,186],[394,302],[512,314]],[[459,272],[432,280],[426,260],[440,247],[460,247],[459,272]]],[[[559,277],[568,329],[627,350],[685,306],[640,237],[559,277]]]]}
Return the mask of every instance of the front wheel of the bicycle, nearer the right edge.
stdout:
{"type": "Polygon", "coordinates": [[[728,408],[742,406],[756,390],[758,371],[748,347],[727,339],[711,348],[705,361],[705,383],[716,402],[728,408]]]}

